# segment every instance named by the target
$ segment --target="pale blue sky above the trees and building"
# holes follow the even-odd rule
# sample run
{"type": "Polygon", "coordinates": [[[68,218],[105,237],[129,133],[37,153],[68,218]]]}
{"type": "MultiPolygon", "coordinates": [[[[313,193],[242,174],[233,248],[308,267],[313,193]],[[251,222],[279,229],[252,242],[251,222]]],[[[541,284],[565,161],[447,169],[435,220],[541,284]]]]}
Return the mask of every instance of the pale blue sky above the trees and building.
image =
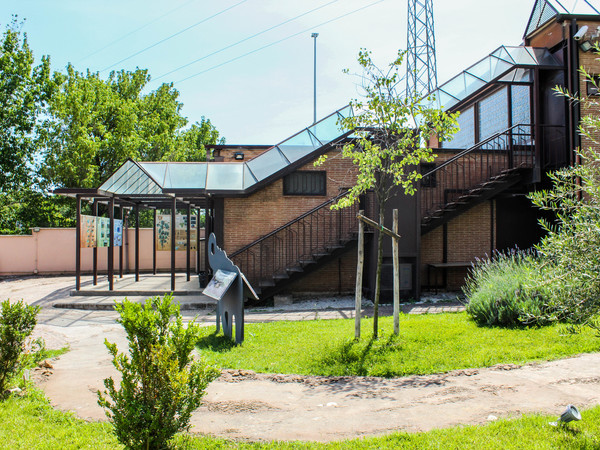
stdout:
{"type": "MultiPolygon", "coordinates": [[[[439,83],[499,45],[518,45],[533,4],[434,0],[439,83]]],[[[360,95],[356,79],[342,70],[357,70],[361,47],[381,65],[406,47],[406,8],[398,0],[2,0],[0,24],[12,14],[26,19],[35,56],[50,55],[54,70],[69,62],[104,76],[112,69],[147,68],[156,79],[150,89],[175,82],[190,122],[209,118],[231,144],[275,144],[312,122],[311,33],[319,33],[322,117],[360,95]]]]}

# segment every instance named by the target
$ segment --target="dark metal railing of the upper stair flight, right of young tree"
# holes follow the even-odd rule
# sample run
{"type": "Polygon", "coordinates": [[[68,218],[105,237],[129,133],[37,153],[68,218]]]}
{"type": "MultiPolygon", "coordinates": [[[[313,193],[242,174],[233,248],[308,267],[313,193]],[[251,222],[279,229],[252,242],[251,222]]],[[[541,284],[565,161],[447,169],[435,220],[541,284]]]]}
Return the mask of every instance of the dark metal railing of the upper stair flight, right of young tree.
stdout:
{"type": "Polygon", "coordinates": [[[533,127],[519,124],[497,133],[444,161],[421,179],[421,217],[431,217],[449,203],[507,170],[535,164],[533,127]]]}

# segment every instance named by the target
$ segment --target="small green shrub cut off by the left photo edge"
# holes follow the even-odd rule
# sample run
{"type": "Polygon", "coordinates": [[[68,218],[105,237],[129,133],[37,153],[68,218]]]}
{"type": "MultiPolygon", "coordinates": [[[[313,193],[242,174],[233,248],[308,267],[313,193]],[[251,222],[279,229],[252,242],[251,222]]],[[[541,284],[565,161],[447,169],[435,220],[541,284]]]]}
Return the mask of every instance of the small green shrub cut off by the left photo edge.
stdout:
{"type": "Polygon", "coordinates": [[[37,323],[38,306],[22,300],[1,304],[0,314],[0,398],[6,397],[8,383],[22,367],[25,340],[37,323]]]}

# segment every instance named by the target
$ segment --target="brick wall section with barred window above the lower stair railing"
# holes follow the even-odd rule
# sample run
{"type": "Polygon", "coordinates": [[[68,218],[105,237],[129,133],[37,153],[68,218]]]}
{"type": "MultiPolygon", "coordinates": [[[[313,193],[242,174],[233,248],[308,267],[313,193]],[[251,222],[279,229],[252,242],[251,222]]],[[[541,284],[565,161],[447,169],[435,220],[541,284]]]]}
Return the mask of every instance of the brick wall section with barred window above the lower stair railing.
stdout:
{"type": "Polygon", "coordinates": [[[327,196],[284,196],[283,179],[279,179],[249,197],[226,198],[223,241],[228,253],[335,197],[340,188],[350,187],[356,180],[352,161],[341,158],[339,151],[331,151],[320,167],[314,167],[310,162],[299,170],[327,171],[327,196]]]}

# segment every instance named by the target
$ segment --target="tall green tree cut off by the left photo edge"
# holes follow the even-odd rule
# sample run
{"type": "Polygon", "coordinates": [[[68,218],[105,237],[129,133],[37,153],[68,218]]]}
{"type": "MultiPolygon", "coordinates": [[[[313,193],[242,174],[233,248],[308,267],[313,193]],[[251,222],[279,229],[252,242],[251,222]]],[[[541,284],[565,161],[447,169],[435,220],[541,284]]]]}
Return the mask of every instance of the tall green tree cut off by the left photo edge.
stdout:
{"type": "Polygon", "coordinates": [[[22,23],[15,17],[0,42],[0,233],[27,231],[34,216],[54,223],[54,208],[36,168],[40,141],[36,126],[56,84],[50,77],[50,58],[34,65],[33,52],[22,23]],[[30,206],[29,200],[35,200],[30,206]],[[41,207],[34,210],[33,207],[41,207]]]}

